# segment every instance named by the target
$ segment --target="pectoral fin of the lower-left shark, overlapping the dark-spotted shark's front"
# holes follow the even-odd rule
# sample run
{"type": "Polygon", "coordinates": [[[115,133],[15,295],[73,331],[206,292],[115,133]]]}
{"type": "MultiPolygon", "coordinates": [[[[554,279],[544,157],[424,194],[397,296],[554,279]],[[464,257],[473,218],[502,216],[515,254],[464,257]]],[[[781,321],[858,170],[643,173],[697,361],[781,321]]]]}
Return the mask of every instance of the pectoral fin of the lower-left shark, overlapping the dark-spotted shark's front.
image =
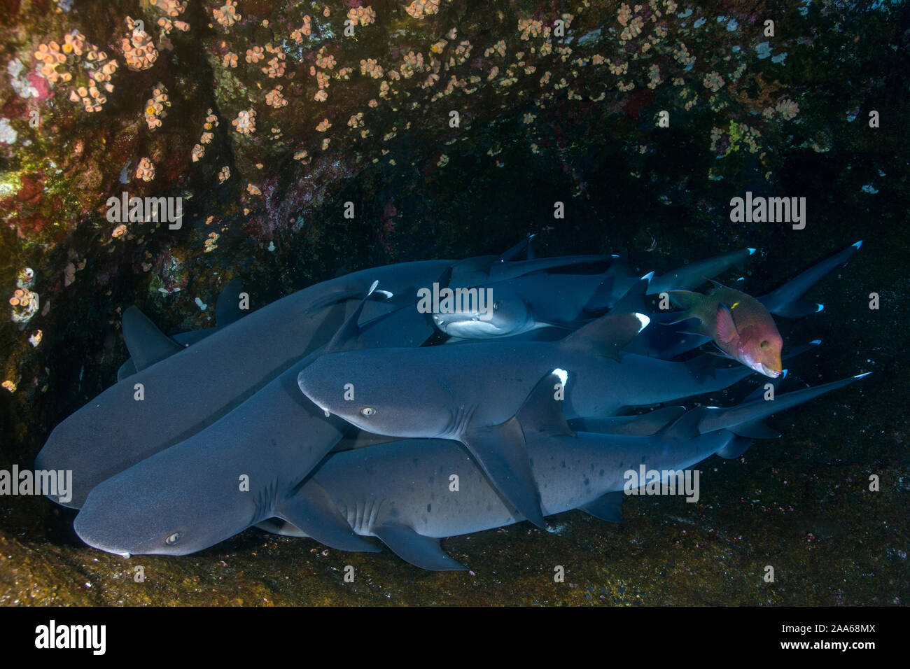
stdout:
{"type": "Polygon", "coordinates": [[[379,552],[379,546],[355,533],[332,502],[329,493],[313,479],[298,487],[295,494],[279,500],[275,515],[300,529],[319,543],[339,551],[379,552]]]}

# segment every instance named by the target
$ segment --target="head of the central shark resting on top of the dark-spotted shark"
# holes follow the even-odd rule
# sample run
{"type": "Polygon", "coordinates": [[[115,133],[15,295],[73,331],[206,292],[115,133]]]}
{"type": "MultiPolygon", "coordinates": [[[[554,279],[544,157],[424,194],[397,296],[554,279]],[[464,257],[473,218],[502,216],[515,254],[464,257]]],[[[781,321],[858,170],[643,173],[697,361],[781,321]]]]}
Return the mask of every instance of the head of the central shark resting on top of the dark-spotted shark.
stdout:
{"type": "Polygon", "coordinates": [[[361,430],[396,437],[441,434],[450,424],[450,390],[423,362],[429,349],[327,353],[298,374],[298,386],[327,414],[361,430]]]}

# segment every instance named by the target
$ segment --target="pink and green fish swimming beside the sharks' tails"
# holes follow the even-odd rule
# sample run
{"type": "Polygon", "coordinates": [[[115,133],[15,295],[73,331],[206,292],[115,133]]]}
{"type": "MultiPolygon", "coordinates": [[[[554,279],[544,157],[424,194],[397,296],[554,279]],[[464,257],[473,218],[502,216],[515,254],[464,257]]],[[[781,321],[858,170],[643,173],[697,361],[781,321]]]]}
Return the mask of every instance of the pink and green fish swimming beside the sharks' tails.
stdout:
{"type": "Polygon", "coordinates": [[[784,340],[763,304],[739,290],[712,281],[710,295],[689,290],[668,290],[673,303],[685,309],[682,317],[699,319],[695,334],[710,337],[723,353],[772,379],[781,375],[784,340]]]}

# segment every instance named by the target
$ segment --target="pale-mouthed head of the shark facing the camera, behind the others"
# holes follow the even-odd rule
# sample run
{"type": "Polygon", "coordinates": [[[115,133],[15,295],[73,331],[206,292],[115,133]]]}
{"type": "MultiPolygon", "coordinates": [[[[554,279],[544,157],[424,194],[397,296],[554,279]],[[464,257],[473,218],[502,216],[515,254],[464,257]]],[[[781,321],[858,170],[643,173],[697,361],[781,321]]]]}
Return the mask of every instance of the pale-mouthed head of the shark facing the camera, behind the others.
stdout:
{"type": "MultiPolygon", "coordinates": [[[[478,293],[487,293],[480,289],[478,293]]],[[[433,314],[437,328],[466,340],[485,340],[519,334],[533,325],[524,300],[508,289],[490,289],[490,298],[474,300],[463,309],[433,314]]]]}

